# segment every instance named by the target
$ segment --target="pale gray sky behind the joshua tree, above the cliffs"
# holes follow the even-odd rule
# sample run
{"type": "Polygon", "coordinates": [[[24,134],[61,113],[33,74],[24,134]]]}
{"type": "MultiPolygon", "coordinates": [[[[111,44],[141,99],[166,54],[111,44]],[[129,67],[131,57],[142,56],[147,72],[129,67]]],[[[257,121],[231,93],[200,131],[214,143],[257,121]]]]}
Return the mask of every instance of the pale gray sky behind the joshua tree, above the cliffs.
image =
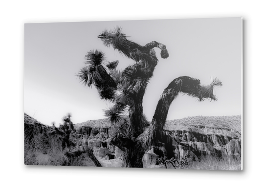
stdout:
{"type": "Polygon", "coordinates": [[[58,126],[66,112],[73,123],[104,118],[110,103],[100,100],[97,90],[84,87],[75,76],[84,66],[88,51],[97,49],[107,60],[119,60],[124,69],[132,60],[105,47],[97,36],[121,26],[130,40],[140,45],[157,41],[166,45],[167,59],[158,57],[154,76],[144,97],[144,112],[151,120],[160,94],[179,76],[200,79],[218,77],[217,102],[198,102],[179,95],[167,119],[187,116],[241,114],[241,18],[166,19],[135,21],[65,22],[25,24],[24,112],[38,121],[58,126]]]}

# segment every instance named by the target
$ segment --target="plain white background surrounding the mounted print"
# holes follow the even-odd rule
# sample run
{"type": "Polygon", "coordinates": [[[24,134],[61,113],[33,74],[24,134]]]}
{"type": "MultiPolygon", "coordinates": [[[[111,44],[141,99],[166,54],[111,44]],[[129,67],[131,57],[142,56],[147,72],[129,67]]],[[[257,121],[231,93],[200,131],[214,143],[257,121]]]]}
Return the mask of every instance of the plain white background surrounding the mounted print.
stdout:
{"type": "MultiPolygon", "coordinates": [[[[1,186],[264,185],[263,0],[21,0],[0,3],[1,186]],[[238,17],[244,21],[243,171],[23,165],[24,23],[238,17]],[[258,184],[259,183],[259,184],[258,184]]],[[[158,25],[159,26],[159,25],[158,25]]],[[[41,58],[41,56],[40,56],[41,58]]]]}

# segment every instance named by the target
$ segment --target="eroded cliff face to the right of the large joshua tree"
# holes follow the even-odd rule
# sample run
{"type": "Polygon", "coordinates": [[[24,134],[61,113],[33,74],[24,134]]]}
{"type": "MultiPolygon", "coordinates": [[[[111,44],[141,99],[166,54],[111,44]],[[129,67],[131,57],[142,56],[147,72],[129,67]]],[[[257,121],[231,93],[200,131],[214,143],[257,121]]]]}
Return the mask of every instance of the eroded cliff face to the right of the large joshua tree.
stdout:
{"type": "Polygon", "coordinates": [[[143,161],[146,166],[157,165],[161,157],[179,162],[186,155],[190,155],[193,161],[211,157],[241,160],[241,116],[190,117],[167,121],[163,142],[147,151],[143,161]]]}

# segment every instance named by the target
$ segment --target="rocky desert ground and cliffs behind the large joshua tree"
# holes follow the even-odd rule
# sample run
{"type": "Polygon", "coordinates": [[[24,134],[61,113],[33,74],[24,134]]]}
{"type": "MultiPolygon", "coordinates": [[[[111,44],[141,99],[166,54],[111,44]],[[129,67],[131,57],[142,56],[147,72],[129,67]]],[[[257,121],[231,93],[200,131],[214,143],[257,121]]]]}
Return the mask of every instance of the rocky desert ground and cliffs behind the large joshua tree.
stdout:
{"type": "MultiPolygon", "coordinates": [[[[107,118],[53,127],[24,116],[25,165],[122,167],[107,118]]],[[[164,129],[166,144],[145,152],[143,168],[241,170],[241,115],[167,120],[164,129]]]]}

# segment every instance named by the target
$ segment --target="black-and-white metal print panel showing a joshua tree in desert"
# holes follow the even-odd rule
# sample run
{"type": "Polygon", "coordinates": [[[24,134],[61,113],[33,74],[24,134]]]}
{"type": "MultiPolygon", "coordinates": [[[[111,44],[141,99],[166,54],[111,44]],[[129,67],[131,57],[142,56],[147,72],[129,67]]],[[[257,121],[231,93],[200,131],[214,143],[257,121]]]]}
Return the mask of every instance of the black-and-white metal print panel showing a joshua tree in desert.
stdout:
{"type": "Polygon", "coordinates": [[[24,164],[242,170],[242,18],[25,24],[24,164]]]}

